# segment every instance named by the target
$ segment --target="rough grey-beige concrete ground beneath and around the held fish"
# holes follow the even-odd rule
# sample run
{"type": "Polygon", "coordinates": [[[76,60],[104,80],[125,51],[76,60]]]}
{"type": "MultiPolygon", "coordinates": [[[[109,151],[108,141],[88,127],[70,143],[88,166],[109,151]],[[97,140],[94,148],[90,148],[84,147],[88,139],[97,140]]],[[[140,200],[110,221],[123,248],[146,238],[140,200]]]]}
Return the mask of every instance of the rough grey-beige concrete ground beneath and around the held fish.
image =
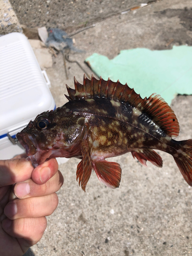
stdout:
{"type": "MultiPolygon", "coordinates": [[[[92,72],[83,61],[94,52],[113,58],[123,49],[161,50],[171,49],[173,45],[192,45],[191,0],[151,1],[146,7],[124,14],[121,12],[144,1],[86,1],[87,9],[82,7],[81,0],[68,1],[63,7],[64,25],[56,7],[52,6],[46,14],[48,11],[41,8],[40,12],[37,2],[32,1],[28,4],[36,8],[37,18],[27,21],[35,9],[30,10],[27,1],[26,4],[18,2],[12,1],[13,9],[20,23],[27,26],[48,24],[48,27],[65,29],[66,26],[67,30],[75,31],[80,21],[88,25],[95,23],[95,27],[74,36],[75,46],[86,52],[70,54],[70,59],[81,63],[90,75],[92,72]],[[52,16],[47,18],[45,14],[52,16]]],[[[61,5],[60,1],[56,3],[61,5]]],[[[41,4],[50,8],[53,2],[41,4]]],[[[83,71],[76,63],[67,62],[67,70],[68,80],[61,54],[53,56],[53,67],[46,70],[57,106],[67,102],[63,95],[65,84],[73,87],[73,76],[79,82],[83,79],[83,71]]],[[[180,123],[178,140],[192,138],[191,104],[192,96],[180,95],[172,102],[180,123]]],[[[120,187],[115,190],[106,187],[93,173],[86,193],[76,182],[79,160],[73,158],[61,164],[59,169],[65,183],[58,191],[58,208],[47,217],[43,238],[26,255],[192,255],[192,188],[182,178],[173,157],[163,152],[159,154],[163,168],[150,163],[148,168],[144,167],[131,154],[111,159],[122,168],[120,187]]]]}

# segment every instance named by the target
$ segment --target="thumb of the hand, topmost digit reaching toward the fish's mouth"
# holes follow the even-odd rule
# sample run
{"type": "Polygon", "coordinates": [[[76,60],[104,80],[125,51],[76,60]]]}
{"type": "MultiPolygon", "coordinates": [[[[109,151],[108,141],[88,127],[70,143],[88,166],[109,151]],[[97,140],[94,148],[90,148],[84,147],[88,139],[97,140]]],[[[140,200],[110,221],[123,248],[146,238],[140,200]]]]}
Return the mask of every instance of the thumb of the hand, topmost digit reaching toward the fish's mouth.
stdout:
{"type": "Polygon", "coordinates": [[[25,158],[0,160],[0,187],[30,179],[33,169],[25,158]]]}

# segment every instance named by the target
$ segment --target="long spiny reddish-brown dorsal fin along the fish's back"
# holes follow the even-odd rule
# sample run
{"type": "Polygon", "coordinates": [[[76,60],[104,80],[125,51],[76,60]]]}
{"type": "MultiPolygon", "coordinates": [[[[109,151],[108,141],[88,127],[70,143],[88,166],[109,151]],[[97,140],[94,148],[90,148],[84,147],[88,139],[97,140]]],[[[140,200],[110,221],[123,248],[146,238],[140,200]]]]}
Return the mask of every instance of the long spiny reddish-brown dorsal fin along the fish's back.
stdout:
{"type": "Polygon", "coordinates": [[[113,82],[108,79],[103,80],[101,77],[97,80],[93,77],[89,80],[85,75],[83,84],[80,84],[74,77],[75,90],[69,88],[67,90],[69,100],[84,100],[90,98],[113,99],[124,103],[129,103],[133,108],[137,108],[142,113],[147,114],[150,118],[161,127],[161,129],[170,137],[179,135],[179,123],[174,111],[160,97],[160,95],[152,94],[148,98],[142,99],[134,89],[127,84],[113,82]]]}

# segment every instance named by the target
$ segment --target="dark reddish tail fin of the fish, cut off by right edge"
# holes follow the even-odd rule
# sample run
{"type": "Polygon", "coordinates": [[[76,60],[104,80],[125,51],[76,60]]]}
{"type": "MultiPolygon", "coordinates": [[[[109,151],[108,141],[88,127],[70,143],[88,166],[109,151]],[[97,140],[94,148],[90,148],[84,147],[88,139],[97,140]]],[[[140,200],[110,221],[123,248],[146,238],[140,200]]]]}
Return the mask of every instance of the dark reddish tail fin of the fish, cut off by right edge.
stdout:
{"type": "Polygon", "coordinates": [[[183,178],[192,186],[192,140],[181,141],[181,148],[177,152],[173,157],[183,178]]]}

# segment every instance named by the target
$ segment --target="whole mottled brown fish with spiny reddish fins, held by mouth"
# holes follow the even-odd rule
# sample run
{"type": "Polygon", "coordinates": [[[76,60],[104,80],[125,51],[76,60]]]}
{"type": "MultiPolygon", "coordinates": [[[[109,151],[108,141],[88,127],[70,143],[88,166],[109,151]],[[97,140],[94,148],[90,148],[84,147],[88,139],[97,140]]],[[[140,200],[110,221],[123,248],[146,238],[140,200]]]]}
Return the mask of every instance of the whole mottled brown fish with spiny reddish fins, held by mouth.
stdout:
{"type": "Polygon", "coordinates": [[[86,191],[92,169],[111,188],[119,187],[121,167],[105,160],[131,152],[141,164],[162,167],[160,150],[174,157],[185,181],[192,186],[192,140],[176,141],[179,122],[174,111],[154,93],[141,98],[119,80],[74,77],[67,86],[69,100],[37,115],[16,137],[34,167],[55,157],[79,158],[76,179],[86,191]]]}

